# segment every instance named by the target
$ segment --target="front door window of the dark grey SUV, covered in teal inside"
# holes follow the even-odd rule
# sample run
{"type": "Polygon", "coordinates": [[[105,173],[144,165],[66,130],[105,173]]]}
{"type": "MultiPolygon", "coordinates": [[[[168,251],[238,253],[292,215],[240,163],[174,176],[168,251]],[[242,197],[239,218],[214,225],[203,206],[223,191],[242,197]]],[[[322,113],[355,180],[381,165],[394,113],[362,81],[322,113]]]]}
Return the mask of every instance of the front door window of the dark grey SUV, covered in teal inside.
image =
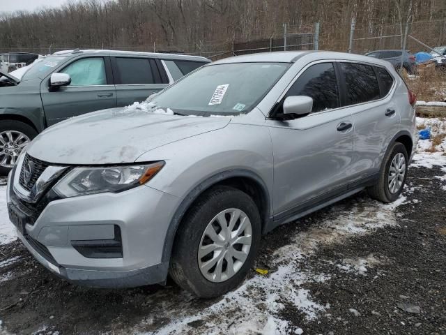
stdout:
{"type": "MultiPolygon", "coordinates": [[[[47,62],[45,61],[45,63],[47,62]]],[[[70,86],[95,86],[107,84],[104,59],[102,57],[79,59],[61,70],[60,73],[70,75],[70,86]]]]}

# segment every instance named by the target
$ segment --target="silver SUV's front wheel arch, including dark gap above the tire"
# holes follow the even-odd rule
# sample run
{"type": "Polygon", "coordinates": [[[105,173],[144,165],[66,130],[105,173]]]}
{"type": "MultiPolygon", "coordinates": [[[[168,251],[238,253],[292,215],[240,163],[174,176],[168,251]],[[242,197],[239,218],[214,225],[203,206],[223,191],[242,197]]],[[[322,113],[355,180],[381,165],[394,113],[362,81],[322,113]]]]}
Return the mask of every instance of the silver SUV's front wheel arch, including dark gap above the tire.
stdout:
{"type": "Polygon", "coordinates": [[[166,241],[162,251],[162,262],[169,262],[176,232],[180,227],[183,217],[187,210],[194,204],[203,192],[217,185],[231,186],[238,188],[240,191],[247,193],[256,203],[262,220],[262,232],[265,232],[268,222],[270,221],[270,195],[268,187],[258,174],[249,170],[229,170],[220,172],[212,177],[202,181],[200,184],[192,188],[192,191],[186,195],[175,211],[173,218],[167,229],[166,241]]]}

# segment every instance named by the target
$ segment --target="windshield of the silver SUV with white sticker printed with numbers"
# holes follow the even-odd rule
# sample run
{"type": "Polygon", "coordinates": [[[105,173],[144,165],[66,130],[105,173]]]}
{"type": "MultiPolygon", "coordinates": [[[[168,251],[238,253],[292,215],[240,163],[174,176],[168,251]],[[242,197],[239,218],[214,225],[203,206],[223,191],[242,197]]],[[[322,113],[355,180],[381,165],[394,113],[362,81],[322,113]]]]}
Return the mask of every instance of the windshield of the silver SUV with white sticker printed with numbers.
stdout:
{"type": "Polygon", "coordinates": [[[204,66],[151,99],[185,115],[233,115],[251,111],[290,64],[238,63],[204,66]]]}

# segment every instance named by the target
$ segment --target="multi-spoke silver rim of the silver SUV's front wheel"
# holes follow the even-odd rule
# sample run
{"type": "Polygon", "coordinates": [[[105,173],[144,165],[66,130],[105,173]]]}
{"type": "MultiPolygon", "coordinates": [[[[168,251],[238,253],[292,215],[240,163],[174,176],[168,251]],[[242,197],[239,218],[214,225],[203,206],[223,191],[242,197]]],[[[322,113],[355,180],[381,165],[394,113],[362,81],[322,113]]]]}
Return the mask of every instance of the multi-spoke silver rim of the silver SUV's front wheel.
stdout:
{"type": "Polygon", "coordinates": [[[245,264],[252,243],[252,225],[240,209],[225,209],[208,223],[198,248],[201,274],[213,283],[234,276],[245,264]]]}

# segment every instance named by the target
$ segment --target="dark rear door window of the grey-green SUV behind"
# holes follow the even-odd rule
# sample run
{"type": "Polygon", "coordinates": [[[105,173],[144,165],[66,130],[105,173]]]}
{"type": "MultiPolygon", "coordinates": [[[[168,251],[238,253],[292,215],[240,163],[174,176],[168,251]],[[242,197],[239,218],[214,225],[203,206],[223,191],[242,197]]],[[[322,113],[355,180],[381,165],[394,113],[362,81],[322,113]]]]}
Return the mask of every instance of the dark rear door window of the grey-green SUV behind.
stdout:
{"type": "Polygon", "coordinates": [[[116,57],[116,84],[155,84],[149,59],[116,57]]]}

